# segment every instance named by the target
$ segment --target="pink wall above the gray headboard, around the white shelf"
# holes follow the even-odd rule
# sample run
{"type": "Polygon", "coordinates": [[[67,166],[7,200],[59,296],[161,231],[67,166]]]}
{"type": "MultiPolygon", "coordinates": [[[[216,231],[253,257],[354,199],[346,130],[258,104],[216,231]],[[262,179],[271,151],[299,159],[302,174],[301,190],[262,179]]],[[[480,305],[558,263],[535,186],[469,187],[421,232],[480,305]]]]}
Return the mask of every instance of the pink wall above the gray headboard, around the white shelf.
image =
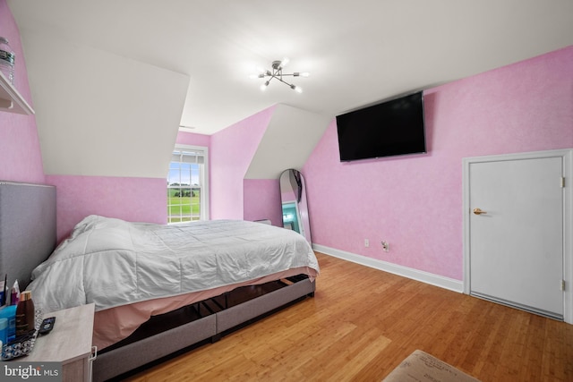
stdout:
{"type": "MultiPolygon", "coordinates": [[[[33,107],[20,31],[5,0],[0,0],[0,36],[10,41],[16,55],[15,87],[33,107]]],[[[0,180],[44,183],[36,117],[0,111],[0,180]]]]}

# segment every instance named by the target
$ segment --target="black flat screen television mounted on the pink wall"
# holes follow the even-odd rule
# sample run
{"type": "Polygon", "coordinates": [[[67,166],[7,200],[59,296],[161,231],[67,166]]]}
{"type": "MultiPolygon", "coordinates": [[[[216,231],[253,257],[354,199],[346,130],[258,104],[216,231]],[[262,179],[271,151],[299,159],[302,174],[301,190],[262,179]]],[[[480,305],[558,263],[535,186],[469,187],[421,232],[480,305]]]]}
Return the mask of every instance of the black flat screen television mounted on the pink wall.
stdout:
{"type": "Polygon", "coordinates": [[[422,91],[337,115],[340,161],[426,152],[422,91]]]}

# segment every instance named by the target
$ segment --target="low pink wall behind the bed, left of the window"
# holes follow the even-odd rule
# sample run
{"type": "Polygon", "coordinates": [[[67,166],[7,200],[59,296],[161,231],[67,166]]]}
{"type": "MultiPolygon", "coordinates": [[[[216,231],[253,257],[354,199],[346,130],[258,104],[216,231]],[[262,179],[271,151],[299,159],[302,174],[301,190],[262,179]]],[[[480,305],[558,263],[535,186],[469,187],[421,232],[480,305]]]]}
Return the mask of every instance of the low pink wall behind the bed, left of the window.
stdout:
{"type": "Polygon", "coordinates": [[[167,223],[166,179],[46,175],[46,182],[56,186],[57,242],[90,215],[167,223]]]}

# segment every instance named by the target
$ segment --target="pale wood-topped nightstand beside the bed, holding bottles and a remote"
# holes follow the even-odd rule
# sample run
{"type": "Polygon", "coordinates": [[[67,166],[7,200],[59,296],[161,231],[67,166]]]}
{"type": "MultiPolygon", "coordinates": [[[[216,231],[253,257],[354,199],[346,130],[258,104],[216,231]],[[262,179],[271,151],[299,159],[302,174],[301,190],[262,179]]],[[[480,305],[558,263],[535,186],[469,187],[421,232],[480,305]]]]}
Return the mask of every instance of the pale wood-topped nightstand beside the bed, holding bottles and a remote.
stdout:
{"type": "Polygon", "coordinates": [[[56,317],[54,329],[38,335],[32,352],[14,361],[62,362],[64,382],[89,382],[94,310],[95,305],[89,304],[44,314],[44,318],[56,317]]]}

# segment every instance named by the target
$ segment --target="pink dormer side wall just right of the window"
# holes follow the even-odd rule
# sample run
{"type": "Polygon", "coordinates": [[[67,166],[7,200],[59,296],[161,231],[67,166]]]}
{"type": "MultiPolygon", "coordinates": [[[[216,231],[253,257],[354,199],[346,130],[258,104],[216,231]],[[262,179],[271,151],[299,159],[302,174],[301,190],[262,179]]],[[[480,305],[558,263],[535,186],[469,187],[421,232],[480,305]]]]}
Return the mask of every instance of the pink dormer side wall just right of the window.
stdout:
{"type": "Polygon", "coordinates": [[[211,219],[244,218],[244,175],[274,109],[271,106],[211,135],[211,219]]]}

